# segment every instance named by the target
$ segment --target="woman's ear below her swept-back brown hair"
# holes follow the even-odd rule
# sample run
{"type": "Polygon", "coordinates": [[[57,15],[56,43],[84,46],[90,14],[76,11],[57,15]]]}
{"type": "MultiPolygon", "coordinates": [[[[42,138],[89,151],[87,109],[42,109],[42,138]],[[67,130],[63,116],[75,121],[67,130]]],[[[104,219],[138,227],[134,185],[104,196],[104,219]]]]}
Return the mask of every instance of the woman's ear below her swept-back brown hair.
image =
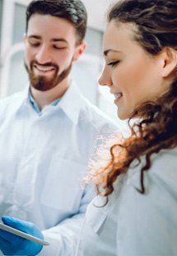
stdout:
{"type": "Polygon", "coordinates": [[[167,78],[175,71],[175,69],[177,69],[177,50],[171,47],[165,47],[161,53],[161,57],[161,75],[162,77],[167,78]]]}

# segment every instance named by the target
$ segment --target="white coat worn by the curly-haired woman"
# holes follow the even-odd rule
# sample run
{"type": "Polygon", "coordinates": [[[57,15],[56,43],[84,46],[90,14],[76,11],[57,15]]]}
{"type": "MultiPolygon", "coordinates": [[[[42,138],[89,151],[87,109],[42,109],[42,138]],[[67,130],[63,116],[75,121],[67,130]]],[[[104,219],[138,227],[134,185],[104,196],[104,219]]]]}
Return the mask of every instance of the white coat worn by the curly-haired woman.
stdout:
{"type": "Polygon", "coordinates": [[[105,197],[91,201],[77,256],[177,255],[177,149],[152,159],[144,172],[145,194],[136,189],[141,188],[139,166],[118,179],[106,206],[105,197]]]}

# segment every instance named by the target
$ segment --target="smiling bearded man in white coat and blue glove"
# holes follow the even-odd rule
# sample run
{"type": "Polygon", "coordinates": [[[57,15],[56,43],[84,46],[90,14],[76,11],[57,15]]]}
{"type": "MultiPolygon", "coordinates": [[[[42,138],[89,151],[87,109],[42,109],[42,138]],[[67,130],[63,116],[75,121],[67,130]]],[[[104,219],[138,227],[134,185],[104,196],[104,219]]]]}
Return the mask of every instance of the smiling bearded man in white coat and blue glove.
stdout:
{"type": "Polygon", "coordinates": [[[0,230],[3,254],[74,254],[93,196],[80,181],[101,138],[115,130],[69,76],[85,50],[85,33],[86,9],[80,0],[35,0],[27,7],[30,88],[0,102],[0,216],[50,245],[42,248],[0,230]]]}

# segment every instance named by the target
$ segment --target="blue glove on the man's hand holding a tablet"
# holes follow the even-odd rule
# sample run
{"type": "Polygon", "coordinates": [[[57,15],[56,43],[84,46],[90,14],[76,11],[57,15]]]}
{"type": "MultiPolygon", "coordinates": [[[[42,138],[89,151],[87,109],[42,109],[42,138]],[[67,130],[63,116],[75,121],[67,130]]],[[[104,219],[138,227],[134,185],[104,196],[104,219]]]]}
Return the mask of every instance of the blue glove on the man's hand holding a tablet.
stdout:
{"type": "MultiPolygon", "coordinates": [[[[21,230],[37,238],[44,239],[39,228],[31,222],[18,220],[10,216],[2,216],[2,221],[16,230],[21,230]]],[[[42,245],[31,242],[28,239],[13,235],[5,230],[0,230],[0,249],[4,255],[37,255],[42,247],[42,245]]]]}

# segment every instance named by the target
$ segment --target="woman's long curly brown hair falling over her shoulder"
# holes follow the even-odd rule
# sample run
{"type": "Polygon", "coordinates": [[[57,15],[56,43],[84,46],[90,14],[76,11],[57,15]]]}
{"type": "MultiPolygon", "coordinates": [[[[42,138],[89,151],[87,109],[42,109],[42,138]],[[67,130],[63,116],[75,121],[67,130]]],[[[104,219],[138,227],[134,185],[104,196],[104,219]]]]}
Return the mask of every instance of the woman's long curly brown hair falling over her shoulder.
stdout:
{"type": "MultiPolygon", "coordinates": [[[[124,0],[110,9],[108,21],[132,22],[136,30],[134,40],[150,55],[157,55],[164,47],[177,50],[177,1],[176,0],[124,0]]],[[[156,69],[156,67],[155,67],[156,69]]],[[[169,92],[156,101],[144,102],[133,111],[129,118],[131,135],[110,148],[110,160],[105,168],[91,174],[97,192],[109,196],[114,191],[114,182],[120,174],[126,173],[134,159],[141,163],[141,190],[144,193],[143,173],[151,168],[151,154],[161,149],[177,146],[177,74],[169,92]],[[130,125],[134,116],[140,117],[138,123],[130,125]]],[[[137,164],[137,165],[138,165],[137,164]]]]}

